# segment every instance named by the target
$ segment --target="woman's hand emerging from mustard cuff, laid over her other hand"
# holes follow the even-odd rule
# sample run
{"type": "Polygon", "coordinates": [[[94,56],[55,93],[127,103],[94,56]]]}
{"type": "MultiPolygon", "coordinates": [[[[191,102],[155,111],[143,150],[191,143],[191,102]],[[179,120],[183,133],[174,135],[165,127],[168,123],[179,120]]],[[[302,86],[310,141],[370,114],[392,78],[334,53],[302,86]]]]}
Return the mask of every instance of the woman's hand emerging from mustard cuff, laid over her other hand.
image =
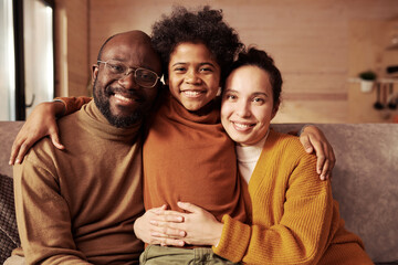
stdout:
{"type": "MultiPolygon", "coordinates": [[[[164,216],[163,221],[151,221],[158,227],[163,227],[163,233],[155,233],[159,237],[176,239],[175,233],[168,231],[184,231],[185,243],[191,245],[217,245],[221,239],[223,224],[216,220],[216,218],[208,211],[187,202],[178,202],[178,206],[188,213],[178,213],[184,218],[184,222],[170,223],[167,221],[169,215],[175,215],[177,212],[160,211],[158,214],[164,216]]],[[[182,233],[181,233],[182,234],[182,233]]]]}

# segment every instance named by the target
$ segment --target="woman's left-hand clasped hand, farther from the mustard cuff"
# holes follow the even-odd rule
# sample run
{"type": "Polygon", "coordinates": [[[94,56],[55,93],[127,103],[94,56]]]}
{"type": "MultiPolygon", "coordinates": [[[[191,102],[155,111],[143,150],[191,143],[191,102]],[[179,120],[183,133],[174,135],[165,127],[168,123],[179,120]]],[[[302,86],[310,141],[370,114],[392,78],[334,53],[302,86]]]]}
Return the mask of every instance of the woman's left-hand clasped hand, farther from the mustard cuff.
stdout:
{"type": "Polygon", "coordinates": [[[166,210],[166,205],[153,208],[134,223],[134,233],[137,239],[147,244],[184,246],[185,242],[177,237],[184,237],[184,231],[172,229],[174,223],[182,222],[179,212],[166,210]],[[163,213],[163,214],[161,214],[163,213]],[[155,225],[161,223],[163,225],[155,225]]]}

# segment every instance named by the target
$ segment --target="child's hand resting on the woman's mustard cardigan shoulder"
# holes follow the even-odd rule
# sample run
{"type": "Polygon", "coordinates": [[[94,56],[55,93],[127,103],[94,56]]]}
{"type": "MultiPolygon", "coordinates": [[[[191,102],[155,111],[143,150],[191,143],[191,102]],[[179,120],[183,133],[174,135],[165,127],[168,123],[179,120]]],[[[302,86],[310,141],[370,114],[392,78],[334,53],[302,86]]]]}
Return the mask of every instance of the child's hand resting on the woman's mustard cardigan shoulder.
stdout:
{"type": "Polygon", "coordinates": [[[331,144],[325,135],[316,126],[305,126],[300,135],[300,141],[303,144],[306,152],[315,151],[317,157],[316,171],[322,180],[332,178],[332,169],[336,163],[336,158],[331,144]]]}

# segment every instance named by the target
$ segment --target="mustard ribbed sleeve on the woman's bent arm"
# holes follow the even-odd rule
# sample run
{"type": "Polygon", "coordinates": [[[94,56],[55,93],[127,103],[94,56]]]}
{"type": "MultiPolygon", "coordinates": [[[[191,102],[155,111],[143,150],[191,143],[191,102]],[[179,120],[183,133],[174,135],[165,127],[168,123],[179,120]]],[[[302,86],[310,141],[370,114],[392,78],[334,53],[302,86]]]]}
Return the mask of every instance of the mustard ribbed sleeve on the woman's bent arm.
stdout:
{"type": "MultiPolygon", "coordinates": [[[[287,169],[283,213],[274,224],[259,221],[272,214],[272,210],[266,210],[271,208],[266,203],[261,212],[253,206],[253,225],[224,215],[221,240],[213,247],[214,253],[247,264],[316,264],[328,241],[333,198],[329,181],[318,180],[315,162],[313,156],[304,156],[296,166],[287,169]]],[[[279,165],[276,168],[289,167],[279,165]]],[[[281,176],[283,173],[277,178],[281,176]]],[[[270,191],[260,186],[254,194],[261,200],[265,192],[270,191]]]]}

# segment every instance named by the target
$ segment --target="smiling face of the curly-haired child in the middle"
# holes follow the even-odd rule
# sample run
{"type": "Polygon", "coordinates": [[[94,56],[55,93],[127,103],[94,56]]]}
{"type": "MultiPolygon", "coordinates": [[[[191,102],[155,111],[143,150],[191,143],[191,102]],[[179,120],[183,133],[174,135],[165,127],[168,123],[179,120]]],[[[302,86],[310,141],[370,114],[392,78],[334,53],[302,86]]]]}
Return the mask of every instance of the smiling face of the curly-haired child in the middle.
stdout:
{"type": "Polygon", "coordinates": [[[168,65],[170,93],[190,112],[211,102],[220,87],[220,66],[201,43],[180,43],[168,65]]]}

